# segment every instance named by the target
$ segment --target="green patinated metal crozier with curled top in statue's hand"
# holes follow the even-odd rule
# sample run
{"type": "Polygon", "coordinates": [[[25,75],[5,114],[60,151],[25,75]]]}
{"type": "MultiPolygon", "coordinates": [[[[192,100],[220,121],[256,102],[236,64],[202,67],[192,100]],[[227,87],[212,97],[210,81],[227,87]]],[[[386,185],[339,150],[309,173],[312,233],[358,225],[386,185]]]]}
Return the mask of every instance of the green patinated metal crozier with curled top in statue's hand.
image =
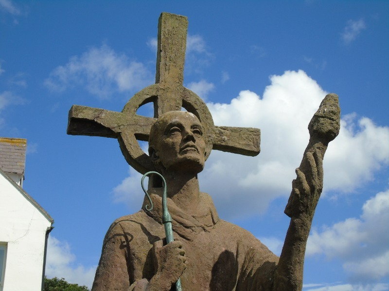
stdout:
{"type": "MultiPolygon", "coordinates": [[[[146,189],[144,188],[143,185],[143,180],[150,174],[156,174],[158,175],[162,181],[163,181],[163,194],[162,194],[162,223],[163,226],[165,227],[165,234],[166,234],[166,243],[173,242],[174,237],[173,237],[173,229],[172,229],[172,216],[169,213],[169,210],[167,209],[167,203],[166,203],[166,181],[165,178],[158,172],[150,171],[147,172],[146,174],[143,175],[141,179],[141,186],[143,189],[144,194],[146,194],[147,199],[149,199],[150,205],[146,205],[145,208],[147,211],[153,210],[153,201],[151,201],[150,195],[147,193],[146,189]]],[[[176,282],[176,291],[182,291],[181,287],[181,280],[178,278],[176,282]]]]}

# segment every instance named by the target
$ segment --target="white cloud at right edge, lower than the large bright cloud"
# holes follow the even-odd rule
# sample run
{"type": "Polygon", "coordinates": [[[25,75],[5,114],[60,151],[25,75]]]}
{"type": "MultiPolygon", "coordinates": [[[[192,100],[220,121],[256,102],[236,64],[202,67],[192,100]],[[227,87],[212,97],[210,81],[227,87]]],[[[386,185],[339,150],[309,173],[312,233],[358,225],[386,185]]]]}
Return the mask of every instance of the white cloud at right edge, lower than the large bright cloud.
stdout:
{"type": "Polygon", "coordinates": [[[313,229],[306,255],[324,254],[342,259],[343,268],[356,280],[389,275],[389,190],[365,202],[360,217],[313,229]]]}

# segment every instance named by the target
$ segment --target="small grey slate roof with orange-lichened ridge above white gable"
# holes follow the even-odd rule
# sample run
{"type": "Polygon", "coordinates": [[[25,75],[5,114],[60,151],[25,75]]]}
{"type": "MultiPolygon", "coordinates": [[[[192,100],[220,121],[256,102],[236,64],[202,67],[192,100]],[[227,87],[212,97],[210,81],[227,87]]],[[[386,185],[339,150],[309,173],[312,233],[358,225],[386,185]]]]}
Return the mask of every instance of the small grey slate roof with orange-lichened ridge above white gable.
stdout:
{"type": "Polygon", "coordinates": [[[0,169],[24,176],[27,140],[0,137],[0,169]]]}

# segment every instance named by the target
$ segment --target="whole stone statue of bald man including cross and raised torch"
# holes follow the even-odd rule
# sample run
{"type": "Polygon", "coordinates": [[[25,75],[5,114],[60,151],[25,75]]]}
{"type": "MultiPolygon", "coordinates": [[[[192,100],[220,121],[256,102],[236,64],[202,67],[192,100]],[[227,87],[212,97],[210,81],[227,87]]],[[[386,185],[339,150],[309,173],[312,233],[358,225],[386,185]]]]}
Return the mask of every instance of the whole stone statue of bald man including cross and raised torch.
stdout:
{"type": "Polygon", "coordinates": [[[322,160],[340,127],[337,96],[323,99],[308,126],[311,137],[292,182],[285,209],[291,222],[278,258],[248,231],[219,219],[210,195],[199,190],[197,174],[212,149],[256,155],[260,132],[214,126],[204,102],[182,86],[186,26],[186,17],[161,15],[156,84],[132,97],[121,113],[76,105],[69,113],[69,134],[118,138],[130,165],[162,174],[173,220],[175,241],[166,244],[161,181],[150,178],[154,209],[147,211],[145,200],[139,212],[110,226],[92,290],[169,291],[179,277],[184,291],[301,290],[322,160]],[[154,102],[155,118],[136,114],[147,102],[154,102]],[[136,141],[147,138],[149,156],[136,141]]]}

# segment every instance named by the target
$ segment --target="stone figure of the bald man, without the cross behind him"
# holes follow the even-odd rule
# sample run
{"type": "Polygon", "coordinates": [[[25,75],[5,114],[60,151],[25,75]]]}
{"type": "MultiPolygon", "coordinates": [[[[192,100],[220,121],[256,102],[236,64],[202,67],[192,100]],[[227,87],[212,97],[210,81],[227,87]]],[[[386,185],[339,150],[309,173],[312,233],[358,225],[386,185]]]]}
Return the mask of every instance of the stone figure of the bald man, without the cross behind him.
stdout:
{"type": "MultiPolygon", "coordinates": [[[[301,289],[306,243],[305,234],[299,233],[304,227],[301,211],[287,213],[297,220],[292,217],[295,223],[289,227],[293,229],[288,231],[279,266],[279,258],[251,233],[220,220],[211,197],[200,192],[197,174],[204,168],[206,155],[203,133],[198,118],[182,111],[164,113],[152,126],[149,156],[166,180],[175,242],[163,242],[162,190],[154,180],[155,185],[149,187],[154,209],[145,210],[145,200],[142,210],[117,219],[108,229],[93,291],[169,291],[179,277],[184,291],[301,289]],[[296,261],[301,270],[290,271],[296,261]]],[[[304,154],[308,167],[301,171],[306,177],[298,172],[292,191],[300,198],[289,200],[294,210],[304,210],[303,204],[311,203],[304,202],[307,187],[322,186],[319,149],[304,154]]]]}

